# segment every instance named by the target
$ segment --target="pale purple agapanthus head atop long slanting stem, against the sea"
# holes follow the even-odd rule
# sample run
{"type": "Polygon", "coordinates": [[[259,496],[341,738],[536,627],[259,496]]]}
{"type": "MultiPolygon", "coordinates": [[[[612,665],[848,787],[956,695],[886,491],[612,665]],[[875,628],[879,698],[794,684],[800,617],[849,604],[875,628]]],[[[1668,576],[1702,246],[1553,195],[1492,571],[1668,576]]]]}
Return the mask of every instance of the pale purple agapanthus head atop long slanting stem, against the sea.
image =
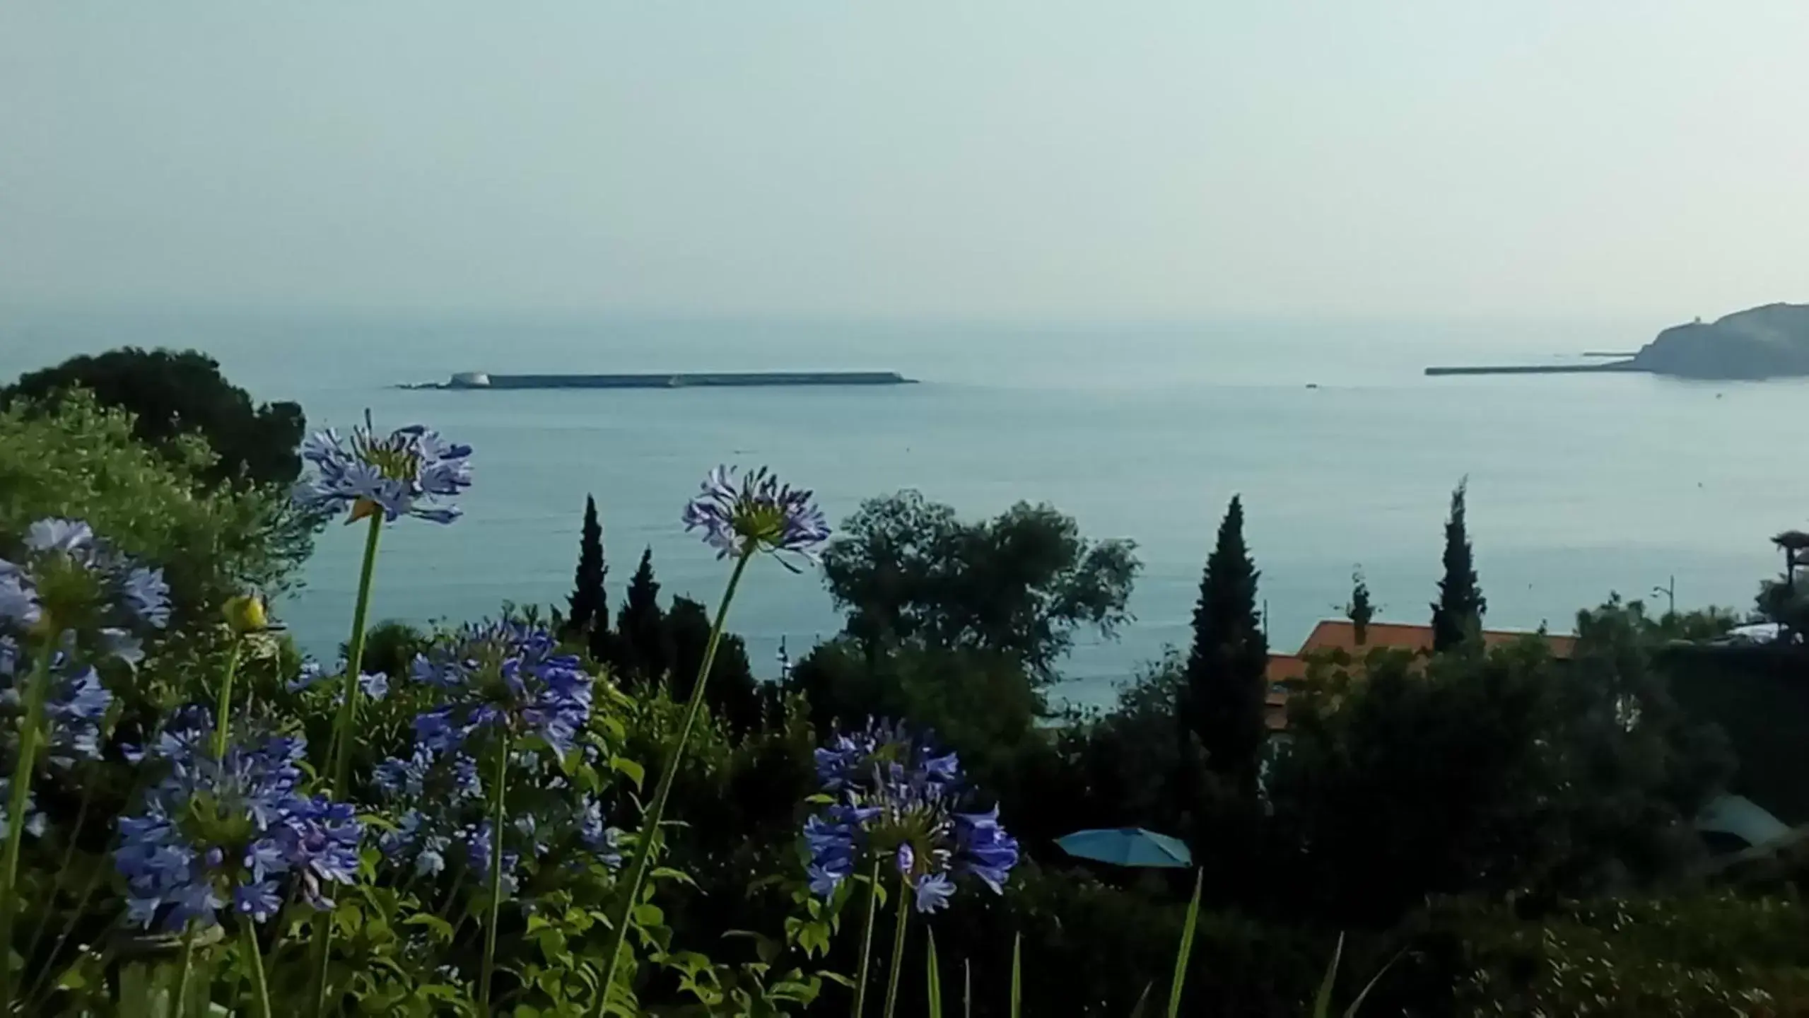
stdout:
{"type": "Polygon", "coordinates": [[[686,530],[704,532],[718,559],[789,551],[814,561],[829,541],[829,521],[814,495],[781,485],[765,467],[751,472],[716,467],[686,503],[682,519],[686,530]]]}

